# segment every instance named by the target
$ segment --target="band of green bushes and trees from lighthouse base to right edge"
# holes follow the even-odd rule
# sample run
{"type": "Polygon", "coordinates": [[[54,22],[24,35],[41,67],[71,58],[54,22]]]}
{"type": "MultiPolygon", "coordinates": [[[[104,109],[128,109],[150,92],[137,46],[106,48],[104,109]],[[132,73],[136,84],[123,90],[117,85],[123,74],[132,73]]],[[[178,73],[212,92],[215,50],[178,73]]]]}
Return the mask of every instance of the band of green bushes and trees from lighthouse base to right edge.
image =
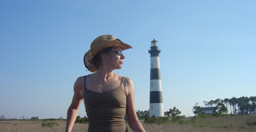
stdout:
{"type": "MultiPolygon", "coordinates": [[[[256,110],[256,97],[232,97],[231,99],[225,98],[224,100],[216,99],[209,102],[204,101],[205,106],[215,107],[212,115],[205,115],[202,111],[202,106],[198,106],[198,103],[192,108],[194,117],[187,120],[184,115],[180,116],[181,111],[173,107],[169,111],[165,112],[165,117],[148,117],[149,111],[137,111],[137,117],[139,120],[144,120],[146,124],[194,124],[199,119],[213,120],[216,117],[233,117],[236,115],[255,115],[256,110]]],[[[256,117],[255,117],[256,119],[256,117]]],[[[198,123],[198,122],[197,122],[198,123]]],[[[256,120],[253,122],[247,122],[247,124],[256,125],[256,120]]]]}

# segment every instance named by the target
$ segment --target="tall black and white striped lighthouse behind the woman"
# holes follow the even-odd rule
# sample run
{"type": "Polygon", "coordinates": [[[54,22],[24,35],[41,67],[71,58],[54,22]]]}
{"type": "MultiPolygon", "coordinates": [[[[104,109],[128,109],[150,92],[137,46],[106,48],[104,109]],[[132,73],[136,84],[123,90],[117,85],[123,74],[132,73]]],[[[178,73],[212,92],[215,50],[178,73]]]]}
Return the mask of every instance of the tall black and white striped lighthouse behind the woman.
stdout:
{"type": "Polygon", "coordinates": [[[150,102],[149,102],[149,117],[164,116],[164,104],[162,102],[162,84],[160,75],[160,60],[159,53],[161,50],[157,46],[157,41],[151,41],[151,82],[150,82],[150,102]]]}

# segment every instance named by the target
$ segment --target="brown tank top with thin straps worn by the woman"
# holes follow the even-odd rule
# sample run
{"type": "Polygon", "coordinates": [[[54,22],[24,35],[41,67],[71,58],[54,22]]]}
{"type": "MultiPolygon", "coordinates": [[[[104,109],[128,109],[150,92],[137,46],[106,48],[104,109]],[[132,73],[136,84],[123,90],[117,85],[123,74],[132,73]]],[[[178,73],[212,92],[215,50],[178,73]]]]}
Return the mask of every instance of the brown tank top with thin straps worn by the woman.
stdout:
{"type": "Polygon", "coordinates": [[[105,93],[89,91],[86,87],[83,99],[89,120],[88,132],[125,132],[127,131],[124,116],[126,115],[126,93],[119,87],[105,93]]]}

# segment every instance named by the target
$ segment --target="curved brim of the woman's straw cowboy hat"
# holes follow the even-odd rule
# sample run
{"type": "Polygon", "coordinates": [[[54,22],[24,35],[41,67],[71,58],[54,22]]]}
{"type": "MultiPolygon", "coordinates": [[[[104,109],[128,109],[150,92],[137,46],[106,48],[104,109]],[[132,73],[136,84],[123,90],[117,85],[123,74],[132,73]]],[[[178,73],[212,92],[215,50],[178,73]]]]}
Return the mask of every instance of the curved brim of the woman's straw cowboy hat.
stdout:
{"type": "Polygon", "coordinates": [[[123,41],[121,41],[120,39],[114,39],[113,41],[109,41],[108,43],[106,43],[103,48],[98,49],[98,52],[96,52],[96,53],[92,54],[92,50],[89,49],[83,57],[83,63],[85,64],[85,67],[89,71],[91,71],[91,72],[96,72],[97,71],[97,69],[92,64],[92,60],[94,59],[95,55],[97,53],[99,53],[100,50],[103,50],[104,48],[108,48],[108,47],[118,47],[118,48],[121,48],[121,50],[127,50],[129,48],[133,48],[132,46],[123,43],[123,41]]]}

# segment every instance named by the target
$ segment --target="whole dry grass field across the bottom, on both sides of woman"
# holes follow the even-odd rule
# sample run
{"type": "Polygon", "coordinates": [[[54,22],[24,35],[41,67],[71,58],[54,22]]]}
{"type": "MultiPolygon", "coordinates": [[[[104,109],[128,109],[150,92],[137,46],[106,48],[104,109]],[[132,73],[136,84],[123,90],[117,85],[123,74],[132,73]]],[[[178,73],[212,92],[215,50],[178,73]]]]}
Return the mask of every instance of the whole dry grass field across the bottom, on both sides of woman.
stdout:
{"type": "MultiPolygon", "coordinates": [[[[243,115],[243,116],[234,116],[234,117],[205,117],[205,118],[196,118],[192,120],[191,118],[183,119],[183,124],[180,122],[171,122],[167,124],[144,124],[144,129],[147,132],[168,132],[168,131],[248,131],[256,132],[256,116],[255,115],[243,115]]],[[[56,122],[58,125],[49,127],[42,127],[41,124],[45,123],[42,120],[32,121],[32,120],[4,120],[0,121],[0,132],[12,132],[12,131],[22,131],[22,132],[60,132],[65,131],[64,120],[55,120],[47,122],[56,122]]],[[[76,132],[86,132],[88,124],[75,124],[73,131],[76,132]]],[[[132,131],[128,128],[129,131],[132,131]]]]}

